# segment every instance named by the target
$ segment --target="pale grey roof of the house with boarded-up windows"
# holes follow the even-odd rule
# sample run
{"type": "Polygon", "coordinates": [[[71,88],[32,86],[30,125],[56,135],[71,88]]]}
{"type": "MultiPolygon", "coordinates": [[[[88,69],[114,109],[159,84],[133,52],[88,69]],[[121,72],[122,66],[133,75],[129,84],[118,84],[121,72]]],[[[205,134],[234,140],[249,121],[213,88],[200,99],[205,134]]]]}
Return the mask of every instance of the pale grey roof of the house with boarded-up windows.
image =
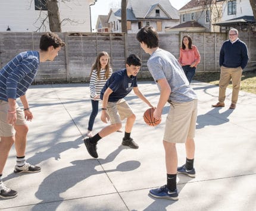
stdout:
{"type": "Polygon", "coordinates": [[[179,19],[177,10],[171,5],[169,0],[146,0],[146,4],[139,0],[128,0],[127,8],[132,10],[136,18],[145,18],[145,15],[148,14],[148,11],[155,4],[161,5],[171,19],[179,19]]]}

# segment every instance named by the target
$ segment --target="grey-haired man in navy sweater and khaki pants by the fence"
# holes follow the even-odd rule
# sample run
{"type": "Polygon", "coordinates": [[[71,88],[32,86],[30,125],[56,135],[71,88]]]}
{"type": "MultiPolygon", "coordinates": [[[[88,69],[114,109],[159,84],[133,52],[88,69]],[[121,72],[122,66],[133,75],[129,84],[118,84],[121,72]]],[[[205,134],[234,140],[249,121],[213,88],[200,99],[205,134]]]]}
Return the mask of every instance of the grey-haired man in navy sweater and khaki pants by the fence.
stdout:
{"type": "Polygon", "coordinates": [[[243,68],[248,62],[248,49],[244,42],[238,39],[238,30],[229,30],[229,40],[226,40],[220,49],[220,82],[218,103],[213,107],[224,107],[226,88],[232,79],[232,103],[230,109],[236,108],[240,90],[243,68]]]}

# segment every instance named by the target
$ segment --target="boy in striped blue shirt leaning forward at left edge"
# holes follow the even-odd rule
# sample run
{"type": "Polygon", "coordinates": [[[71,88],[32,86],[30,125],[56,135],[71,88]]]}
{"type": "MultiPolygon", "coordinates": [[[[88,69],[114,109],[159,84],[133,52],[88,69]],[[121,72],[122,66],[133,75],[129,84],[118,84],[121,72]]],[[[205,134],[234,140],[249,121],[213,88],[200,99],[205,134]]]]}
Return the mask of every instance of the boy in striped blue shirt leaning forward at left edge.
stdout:
{"type": "Polygon", "coordinates": [[[32,121],[26,91],[36,77],[40,62],[53,61],[65,43],[54,33],[45,33],[40,38],[40,51],[19,53],[0,70],[0,197],[10,199],[17,196],[2,182],[2,172],[15,143],[17,163],[14,173],[35,173],[41,171],[39,166],[30,165],[25,160],[26,139],[29,128],[27,121],[32,121]],[[16,99],[20,97],[23,111],[16,99]]]}

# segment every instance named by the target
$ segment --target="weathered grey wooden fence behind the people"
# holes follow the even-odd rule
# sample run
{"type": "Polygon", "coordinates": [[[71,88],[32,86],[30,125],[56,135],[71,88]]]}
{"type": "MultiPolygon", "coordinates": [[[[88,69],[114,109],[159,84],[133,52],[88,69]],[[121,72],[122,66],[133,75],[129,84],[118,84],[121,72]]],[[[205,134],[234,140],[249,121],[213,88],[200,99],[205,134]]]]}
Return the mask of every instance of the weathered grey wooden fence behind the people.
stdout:
{"type": "MultiPolygon", "coordinates": [[[[201,62],[196,71],[219,71],[218,56],[226,33],[185,33],[159,34],[160,48],[166,49],[179,58],[179,48],[182,37],[189,34],[193,44],[198,47],[201,62]]],[[[42,33],[0,33],[0,68],[3,67],[17,53],[39,48],[42,33]]],[[[58,33],[66,43],[65,48],[53,62],[42,62],[36,81],[88,81],[90,68],[96,55],[106,51],[111,57],[114,71],[124,68],[125,59],[130,53],[139,55],[142,68],[138,78],[150,78],[146,67],[149,55],[141,49],[136,40],[136,34],[124,33],[58,33]]],[[[248,67],[256,64],[256,33],[239,32],[240,39],[246,43],[249,52],[248,67]]]]}

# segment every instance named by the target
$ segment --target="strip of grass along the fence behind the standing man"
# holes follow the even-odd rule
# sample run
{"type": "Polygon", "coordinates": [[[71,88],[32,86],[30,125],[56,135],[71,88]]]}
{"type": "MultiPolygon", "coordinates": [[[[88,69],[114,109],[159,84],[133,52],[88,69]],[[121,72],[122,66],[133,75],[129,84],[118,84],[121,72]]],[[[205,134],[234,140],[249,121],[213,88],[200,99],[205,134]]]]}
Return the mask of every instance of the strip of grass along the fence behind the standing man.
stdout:
{"type": "MultiPolygon", "coordinates": [[[[196,72],[193,80],[218,86],[220,72],[196,72]]],[[[228,87],[232,89],[232,81],[230,81],[228,87]]],[[[243,92],[256,94],[256,70],[243,72],[241,79],[241,90],[243,92]]]]}

